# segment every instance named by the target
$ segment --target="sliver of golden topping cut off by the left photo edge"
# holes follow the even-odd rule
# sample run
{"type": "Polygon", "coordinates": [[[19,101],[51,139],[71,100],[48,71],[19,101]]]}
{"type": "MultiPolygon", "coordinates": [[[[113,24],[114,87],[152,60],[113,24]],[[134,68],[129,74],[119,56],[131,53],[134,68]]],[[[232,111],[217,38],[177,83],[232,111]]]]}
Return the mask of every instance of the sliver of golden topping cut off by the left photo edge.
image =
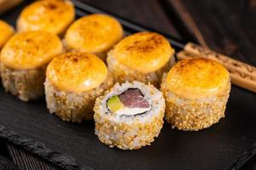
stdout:
{"type": "Polygon", "coordinates": [[[12,26],[9,26],[3,20],[0,20],[0,48],[3,47],[3,44],[9,40],[15,34],[15,30],[12,26]]]}

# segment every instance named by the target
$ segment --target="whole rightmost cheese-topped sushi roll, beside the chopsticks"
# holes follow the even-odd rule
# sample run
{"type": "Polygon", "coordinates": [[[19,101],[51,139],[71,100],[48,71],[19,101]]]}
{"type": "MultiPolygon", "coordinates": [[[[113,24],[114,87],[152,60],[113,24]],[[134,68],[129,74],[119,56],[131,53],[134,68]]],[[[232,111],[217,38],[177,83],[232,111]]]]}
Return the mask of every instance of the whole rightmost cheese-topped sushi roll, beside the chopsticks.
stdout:
{"type": "Polygon", "coordinates": [[[230,95],[230,73],[212,59],[183,59],[163,76],[166,122],[197,131],[224,117],[230,95]]]}

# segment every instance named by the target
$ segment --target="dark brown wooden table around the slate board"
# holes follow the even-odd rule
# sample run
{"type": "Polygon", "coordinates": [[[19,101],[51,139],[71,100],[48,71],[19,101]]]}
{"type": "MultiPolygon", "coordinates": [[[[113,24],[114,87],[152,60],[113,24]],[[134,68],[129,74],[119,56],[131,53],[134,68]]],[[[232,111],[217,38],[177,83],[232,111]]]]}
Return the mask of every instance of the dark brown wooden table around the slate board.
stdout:
{"type": "MultiPolygon", "coordinates": [[[[83,1],[142,26],[201,43],[256,65],[256,0],[197,0],[196,3],[190,0],[83,1]]],[[[24,169],[60,169],[3,140],[0,140],[0,154],[24,169]]],[[[0,167],[7,161],[0,161],[0,167]]],[[[242,169],[256,169],[256,156],[242,169]]]]}

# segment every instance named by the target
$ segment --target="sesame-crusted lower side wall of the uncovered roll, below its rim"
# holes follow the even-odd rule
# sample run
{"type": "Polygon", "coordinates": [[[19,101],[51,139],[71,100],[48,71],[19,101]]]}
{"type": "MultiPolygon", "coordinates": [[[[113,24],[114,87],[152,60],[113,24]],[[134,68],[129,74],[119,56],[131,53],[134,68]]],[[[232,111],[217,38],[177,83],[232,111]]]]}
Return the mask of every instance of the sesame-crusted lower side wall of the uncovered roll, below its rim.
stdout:
{"type": "MultiPolygon", "coordinates": [[[[150,145],[157,138],[163,127],[164,110],[155,116],[151,122],[132,124],[109,122],[96,123],[96,135],[103,144],[109,147],[117,146],[122,150],[137,150],[145,145],[150,145]]],[[[98,119],[96,114],[95,120],[98,119]]]]}

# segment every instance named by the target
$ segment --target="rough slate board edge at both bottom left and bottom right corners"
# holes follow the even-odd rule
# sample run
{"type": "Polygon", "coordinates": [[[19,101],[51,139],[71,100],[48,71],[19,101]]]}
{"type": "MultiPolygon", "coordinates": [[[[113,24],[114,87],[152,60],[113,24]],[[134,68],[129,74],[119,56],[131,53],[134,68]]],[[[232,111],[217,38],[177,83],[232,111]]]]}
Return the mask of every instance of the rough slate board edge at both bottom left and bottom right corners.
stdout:
{"type": "MultiPolygon", "coordinates": [[[[0,138],[7,139],[9,142],[21,146],[23,149],[30,151],[32,154],[40,156],[47,161],[54,163],[56,166],[68,170],[92,170],[89,166],[79,166],[75,163],[73,156],[61,154],[58,151],[50,150],[44,143],[35,141],[30,138],[20,136],[15,131],[9,130],[3,125],[0,125],[0,138]]],[[[234,161],[227,170],[237,170],[242,167],[251,157],[256,155],[256,142],[253,146],[244,151],[241,156],[234,161]]]]}

